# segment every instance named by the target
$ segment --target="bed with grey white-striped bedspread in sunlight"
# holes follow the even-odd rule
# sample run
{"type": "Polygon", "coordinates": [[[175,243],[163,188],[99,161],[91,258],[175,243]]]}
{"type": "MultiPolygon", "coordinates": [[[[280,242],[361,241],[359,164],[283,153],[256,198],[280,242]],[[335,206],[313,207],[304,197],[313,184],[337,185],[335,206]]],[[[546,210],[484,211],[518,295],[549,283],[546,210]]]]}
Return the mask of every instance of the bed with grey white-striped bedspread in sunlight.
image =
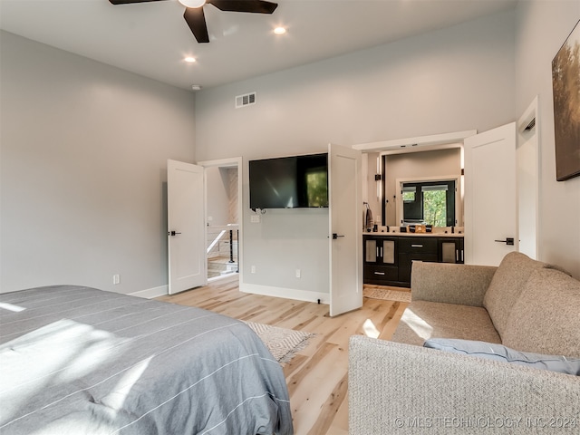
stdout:
{"type": "Polygon", "coordinates": [[[247,324],[74,285],[0,295],[0,433],[293,433],[247,324]]]}

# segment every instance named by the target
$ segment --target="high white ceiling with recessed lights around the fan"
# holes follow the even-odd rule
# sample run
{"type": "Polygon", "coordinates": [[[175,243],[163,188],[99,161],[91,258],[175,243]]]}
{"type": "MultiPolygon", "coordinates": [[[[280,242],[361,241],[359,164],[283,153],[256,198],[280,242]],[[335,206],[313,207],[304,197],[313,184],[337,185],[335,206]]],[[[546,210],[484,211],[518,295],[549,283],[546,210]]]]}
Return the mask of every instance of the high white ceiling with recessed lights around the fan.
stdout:
{"type": "Polygon", "coordinates": [[[517,0],[278,0],[274,14],[205,5],[197,43],[177,0],[0,0],[0,28],[184,89],[237,82],[515,8],[517,0]],[[284,35],[273,34],[277,25],[284,35]],[[196,63],[185,63],[184,56],[196,63]]]}

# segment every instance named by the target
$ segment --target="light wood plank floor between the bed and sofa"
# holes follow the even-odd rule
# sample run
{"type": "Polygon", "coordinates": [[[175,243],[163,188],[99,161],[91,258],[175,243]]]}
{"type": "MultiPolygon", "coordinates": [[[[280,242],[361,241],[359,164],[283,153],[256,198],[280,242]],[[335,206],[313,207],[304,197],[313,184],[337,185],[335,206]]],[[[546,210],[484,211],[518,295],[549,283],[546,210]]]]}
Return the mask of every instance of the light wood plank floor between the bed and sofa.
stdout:
{"type": "Polygon", "coordinates": [[[240,320],[317,333],[304,351],[284,366],[295,435],[348,434],[349,337],[368,334],[389,340],[408,305],[365,297],[362,309],[330,317],[325,304],[241,293],[237,280],[158,299],[240,320]]]}

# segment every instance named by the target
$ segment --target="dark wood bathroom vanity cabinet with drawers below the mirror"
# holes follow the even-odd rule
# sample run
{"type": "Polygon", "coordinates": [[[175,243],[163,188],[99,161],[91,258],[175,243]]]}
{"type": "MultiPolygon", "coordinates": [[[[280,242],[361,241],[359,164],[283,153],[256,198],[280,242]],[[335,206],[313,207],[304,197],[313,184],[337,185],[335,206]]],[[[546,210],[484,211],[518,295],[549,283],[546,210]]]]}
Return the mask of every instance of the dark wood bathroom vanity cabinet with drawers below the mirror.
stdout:
{"type": "Polygon", "coordinates": [[[413,261],[463,263],[463,237],[363,236],[364,284],[411,286],[413,261]]]}

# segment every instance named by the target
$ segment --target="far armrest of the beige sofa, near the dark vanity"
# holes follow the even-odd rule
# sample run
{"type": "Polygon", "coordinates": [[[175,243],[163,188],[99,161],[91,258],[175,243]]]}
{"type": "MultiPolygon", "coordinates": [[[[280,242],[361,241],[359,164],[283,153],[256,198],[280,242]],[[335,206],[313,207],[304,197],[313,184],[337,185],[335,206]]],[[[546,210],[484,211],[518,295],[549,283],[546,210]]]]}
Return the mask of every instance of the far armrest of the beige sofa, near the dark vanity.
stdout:
{"type": "Polygon", "coordinates": [[[497,269],[495,266],[413,261],[412,299],[483,306],[483,297],[497,269]]]}

